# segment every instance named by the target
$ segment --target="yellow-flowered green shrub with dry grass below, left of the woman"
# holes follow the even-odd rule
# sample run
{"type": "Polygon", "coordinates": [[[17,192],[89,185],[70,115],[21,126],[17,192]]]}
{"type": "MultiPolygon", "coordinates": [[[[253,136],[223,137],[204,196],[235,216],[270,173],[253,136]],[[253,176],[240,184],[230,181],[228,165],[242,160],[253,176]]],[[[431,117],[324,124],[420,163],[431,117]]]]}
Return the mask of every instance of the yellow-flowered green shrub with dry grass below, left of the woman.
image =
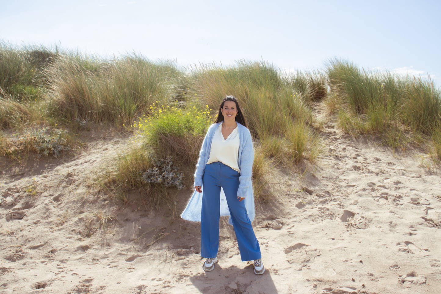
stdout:
{"type": "Polygon", "coordinates": [[[136,121],[133,145],[104,178],[102,185],[127,200],[127,190],[145,191],[143,201],[159,209],[175,207],[173,192],[191,186],[194,165],[206,130],[211,123],[208,106],[159,105],[149,107],[149,115],[136,121]]]}

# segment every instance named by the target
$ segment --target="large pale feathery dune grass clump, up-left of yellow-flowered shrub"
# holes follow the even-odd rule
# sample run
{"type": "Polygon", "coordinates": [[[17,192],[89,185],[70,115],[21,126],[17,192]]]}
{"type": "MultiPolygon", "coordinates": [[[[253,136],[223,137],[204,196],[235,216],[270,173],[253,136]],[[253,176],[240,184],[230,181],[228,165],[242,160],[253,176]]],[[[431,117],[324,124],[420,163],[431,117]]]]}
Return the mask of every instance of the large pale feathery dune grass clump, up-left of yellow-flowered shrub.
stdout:
{"type": "Polygon", "coordinates": [[[153,63],[136,55],[107,61],[79,53],[64,54],[46,74],[53,116],[117,125],[131,124],[155,101],[172,100],[173,85],[182,75],[170,62],[153,63]]]}

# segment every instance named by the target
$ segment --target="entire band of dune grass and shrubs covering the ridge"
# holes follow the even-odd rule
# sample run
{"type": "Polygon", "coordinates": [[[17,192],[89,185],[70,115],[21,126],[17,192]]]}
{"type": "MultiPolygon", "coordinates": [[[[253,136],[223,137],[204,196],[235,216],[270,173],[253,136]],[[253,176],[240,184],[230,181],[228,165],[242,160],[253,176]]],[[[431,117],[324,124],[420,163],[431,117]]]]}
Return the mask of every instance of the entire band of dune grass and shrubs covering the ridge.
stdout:
{"type": "MultiPolygon", "coordinates": [[[[86,124],[134,132],[136,142],[99,180],[122,200],[140,189],[154,207],[173,207],[174,189],[192,185],[203,136],[227,94],[239,99],[254,139],[259,201],[271,197],[270,168],[318,161],[324,146],[312,107],[322,99],[344,132],[377,136],[394,152],[431,138],[431,157],[441,160],[441,97],[430,79],[366,71],[337,59],[323,72],[292,75],[247,60],[183,71],[135,54],[110,60],[0,43],[0,129],[23,138],[41,129],[44,136],[71,137],[63,128],[76,132],[86,124]]],[[[4,155],[18,146],[12,142],[18,141],[2,132],[4,155]]],[[[37,152],[34,145],[23,150],[37,152]]]]}

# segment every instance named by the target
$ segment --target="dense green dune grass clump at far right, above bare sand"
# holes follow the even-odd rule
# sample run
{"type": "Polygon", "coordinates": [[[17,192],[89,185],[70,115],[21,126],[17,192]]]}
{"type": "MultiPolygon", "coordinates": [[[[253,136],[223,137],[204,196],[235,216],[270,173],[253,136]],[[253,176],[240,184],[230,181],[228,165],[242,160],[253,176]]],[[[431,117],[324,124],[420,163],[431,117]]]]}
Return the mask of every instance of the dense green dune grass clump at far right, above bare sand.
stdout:
{"type": "Polygon", "coordinates": [[[440,90],[430,79],[369,72],[341,60],[330,60],[326,74],[327,105],[344,132],[378,136],[395,152],[441,127],[440,90]]]}

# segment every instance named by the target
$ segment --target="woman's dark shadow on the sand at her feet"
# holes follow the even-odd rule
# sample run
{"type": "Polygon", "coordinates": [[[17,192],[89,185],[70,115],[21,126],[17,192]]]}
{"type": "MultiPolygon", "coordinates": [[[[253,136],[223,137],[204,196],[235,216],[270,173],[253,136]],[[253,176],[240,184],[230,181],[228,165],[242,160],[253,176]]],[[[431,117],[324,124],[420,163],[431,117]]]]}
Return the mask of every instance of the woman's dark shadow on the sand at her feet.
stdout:
{"type": "Polygon", "coordinates": [[[277,294],[276,286],[268,270],[263,275],[255,275],[253,265],[245,268],[230,266],[222,268],[215,264],[213,271],[194,275],[191,283],[203,294],[219,293],[265,293],[277,294]]]}

